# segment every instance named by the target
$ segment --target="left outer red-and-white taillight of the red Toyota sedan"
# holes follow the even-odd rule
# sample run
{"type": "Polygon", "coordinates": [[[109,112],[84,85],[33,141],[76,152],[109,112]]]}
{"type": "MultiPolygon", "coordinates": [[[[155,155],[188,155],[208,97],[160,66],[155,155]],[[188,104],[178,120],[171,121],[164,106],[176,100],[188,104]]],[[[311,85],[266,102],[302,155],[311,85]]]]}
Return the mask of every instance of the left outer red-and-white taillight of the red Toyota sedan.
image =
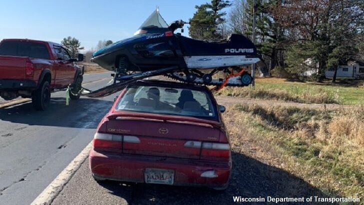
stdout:
{"type": "Polygon", "coordinates": [[[122,145],[122,135],[96,132],[93,137],[93,147],[95,148],[121,149],[121,145],[122,145]]]}

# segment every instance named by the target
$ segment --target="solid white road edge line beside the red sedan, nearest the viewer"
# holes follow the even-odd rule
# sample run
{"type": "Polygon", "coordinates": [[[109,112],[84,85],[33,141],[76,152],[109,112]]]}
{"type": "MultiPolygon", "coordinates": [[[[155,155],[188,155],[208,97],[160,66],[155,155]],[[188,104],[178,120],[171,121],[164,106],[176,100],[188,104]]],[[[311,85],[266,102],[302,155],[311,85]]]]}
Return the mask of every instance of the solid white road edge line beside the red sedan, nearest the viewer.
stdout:
{"type": "Polygon", "coordinates": [[[31,205],[50,204],[87,158],[92,141],[58,174],[58,176],[31,202],[31,205]]]}

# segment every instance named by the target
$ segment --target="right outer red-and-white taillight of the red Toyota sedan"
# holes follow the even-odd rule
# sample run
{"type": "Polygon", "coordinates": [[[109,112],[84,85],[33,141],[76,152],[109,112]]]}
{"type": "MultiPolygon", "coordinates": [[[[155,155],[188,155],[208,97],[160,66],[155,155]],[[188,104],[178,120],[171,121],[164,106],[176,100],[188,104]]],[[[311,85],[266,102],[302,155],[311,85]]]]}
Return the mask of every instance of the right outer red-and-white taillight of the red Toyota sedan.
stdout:
{"type": "Polygon", "coordinates": [[[202,142],[201,159],[228,160],[230,145],[228,143],[202,142]]]}

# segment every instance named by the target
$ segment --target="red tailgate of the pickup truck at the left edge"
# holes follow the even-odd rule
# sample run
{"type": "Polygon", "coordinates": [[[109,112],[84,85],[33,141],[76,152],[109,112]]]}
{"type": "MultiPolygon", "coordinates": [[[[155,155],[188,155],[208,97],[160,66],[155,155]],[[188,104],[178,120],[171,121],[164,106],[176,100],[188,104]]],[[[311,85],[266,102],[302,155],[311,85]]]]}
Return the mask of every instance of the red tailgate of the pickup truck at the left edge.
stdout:
{"type": "Polygon", "coordinates": [[[0,55],[0,79],[24,79],[27,58],[0,55]]]}

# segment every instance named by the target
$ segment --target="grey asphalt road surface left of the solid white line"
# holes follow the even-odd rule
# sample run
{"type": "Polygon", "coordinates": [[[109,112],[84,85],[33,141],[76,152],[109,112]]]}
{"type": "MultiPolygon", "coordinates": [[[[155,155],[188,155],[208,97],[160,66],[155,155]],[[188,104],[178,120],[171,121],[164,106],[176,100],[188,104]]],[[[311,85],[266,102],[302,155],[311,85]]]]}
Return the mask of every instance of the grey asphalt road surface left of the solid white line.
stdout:
{"type": "MultiPolygon", "coordinates": [[[[110,73],[84,75],[84,86],[100,88],[110,73]]],[[[0,204],[29,204],[91,141],[115,95],[81,97],[65,105],[52,93],[46,111],[31,102],[0,108],[0,204]]]]}

